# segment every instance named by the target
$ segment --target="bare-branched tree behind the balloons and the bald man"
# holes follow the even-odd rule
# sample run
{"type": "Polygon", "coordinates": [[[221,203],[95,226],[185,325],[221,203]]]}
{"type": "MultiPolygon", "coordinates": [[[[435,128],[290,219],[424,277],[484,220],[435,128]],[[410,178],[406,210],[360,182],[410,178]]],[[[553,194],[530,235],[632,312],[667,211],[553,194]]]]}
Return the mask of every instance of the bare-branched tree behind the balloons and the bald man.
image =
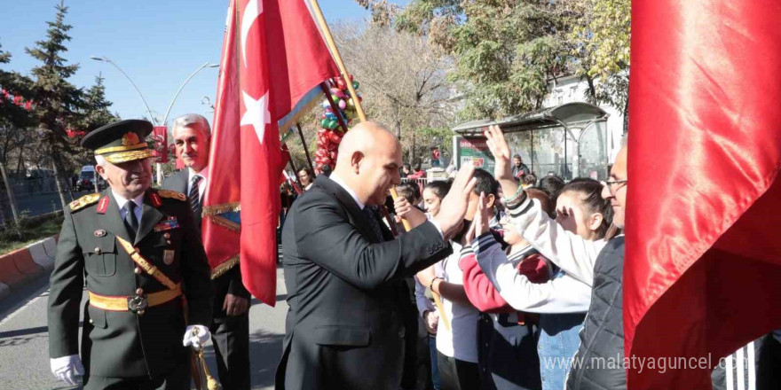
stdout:
{"type": "Polygon", "coordinates": [[[425,38],[382,23],[335,24],[335,41],[355,80],[367,116],[389,126],[408,161],[428,149],[422,129],[453,124],[457,110],[454,85],[447,80],[452,59],[431,51],[425,38]]]}

